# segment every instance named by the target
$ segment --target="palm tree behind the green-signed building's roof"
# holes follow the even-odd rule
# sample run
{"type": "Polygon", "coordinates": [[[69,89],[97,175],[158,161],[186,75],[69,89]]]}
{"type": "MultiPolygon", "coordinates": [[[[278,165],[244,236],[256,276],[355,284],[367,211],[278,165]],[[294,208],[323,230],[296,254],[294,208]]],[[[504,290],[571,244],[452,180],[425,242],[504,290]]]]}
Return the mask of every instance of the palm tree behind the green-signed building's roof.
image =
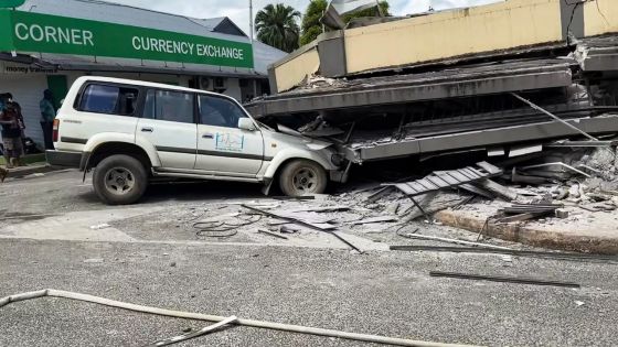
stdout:
{"type": "Polygon", "coordinates": [[[290,53],[299,46],[300,28],[297,18],[300,18],[300,12],[290,6],[266,6],[255,17],[257,40],[290,53]]]}

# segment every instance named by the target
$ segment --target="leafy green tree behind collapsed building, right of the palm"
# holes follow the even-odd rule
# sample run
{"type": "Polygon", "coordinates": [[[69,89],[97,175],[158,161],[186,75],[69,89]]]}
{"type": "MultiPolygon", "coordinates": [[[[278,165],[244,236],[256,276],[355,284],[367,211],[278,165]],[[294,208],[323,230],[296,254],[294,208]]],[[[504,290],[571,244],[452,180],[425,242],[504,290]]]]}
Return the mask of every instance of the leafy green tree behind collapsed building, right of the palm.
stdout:
{"type": "MultiPolygon", "coordinates": [[[[327,0],[311,0],[307,10],[305,11],[305,17],[302,17],[302,35],[300,36],[300,44],[305,45],[310,43],[311,41],[318,39],[318,36],[323,33],[322,23],[320,23],[320,19],[322,14],[327,10],[328,1],[327,0]]],[[[380,10],[377,8],[371,8],[353,13],[349,13],[343,15],[343,21],[349,23],[351,20],[355,18],[362,17],[379,17],[380,12],[383,15],[391,15],[388,10],[391,6],[387,1],[380,1],[380,10]]]]}

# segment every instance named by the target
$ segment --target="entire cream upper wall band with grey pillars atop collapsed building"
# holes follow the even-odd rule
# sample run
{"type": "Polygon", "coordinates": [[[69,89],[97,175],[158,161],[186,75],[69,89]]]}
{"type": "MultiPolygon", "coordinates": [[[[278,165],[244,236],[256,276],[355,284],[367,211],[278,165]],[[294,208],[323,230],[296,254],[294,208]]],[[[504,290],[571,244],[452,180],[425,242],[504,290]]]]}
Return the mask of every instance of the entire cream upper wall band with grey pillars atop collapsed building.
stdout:
{"type": "Polygon", "coordinates": [[[577,37],[618,32],[618,1],[508,0],[386,23],[329,32],[270,66],[271,84],[283,93],[307,75],[342,77],[415,66],[566,46],[577,37]]]}

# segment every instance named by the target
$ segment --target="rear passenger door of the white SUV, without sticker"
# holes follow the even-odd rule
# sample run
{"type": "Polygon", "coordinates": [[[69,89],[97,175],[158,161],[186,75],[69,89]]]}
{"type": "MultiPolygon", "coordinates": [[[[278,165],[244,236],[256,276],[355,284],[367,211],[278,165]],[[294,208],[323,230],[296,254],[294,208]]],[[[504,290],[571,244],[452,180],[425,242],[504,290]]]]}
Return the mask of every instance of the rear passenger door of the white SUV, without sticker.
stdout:
{"type": "Polygon", "coordinates": [[[193,170],[195,165],[198,124],[194,102],[192,93],[163,89],[146,93],[136,137],[154,145],[164,169],[193,170]]]}

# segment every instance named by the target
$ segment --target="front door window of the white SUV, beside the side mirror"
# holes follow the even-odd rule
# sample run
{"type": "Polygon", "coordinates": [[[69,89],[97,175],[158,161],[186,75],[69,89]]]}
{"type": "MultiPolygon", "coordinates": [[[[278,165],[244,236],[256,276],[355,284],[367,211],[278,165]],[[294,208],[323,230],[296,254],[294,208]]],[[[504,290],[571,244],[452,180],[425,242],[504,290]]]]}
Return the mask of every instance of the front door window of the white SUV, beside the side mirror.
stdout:
{"type": "Polygon", "coordinates": [[[246,118],[243,109],[224,98],[200,96],[200,123],[205,126],[238,128],[238,119],[246,118]]]}

